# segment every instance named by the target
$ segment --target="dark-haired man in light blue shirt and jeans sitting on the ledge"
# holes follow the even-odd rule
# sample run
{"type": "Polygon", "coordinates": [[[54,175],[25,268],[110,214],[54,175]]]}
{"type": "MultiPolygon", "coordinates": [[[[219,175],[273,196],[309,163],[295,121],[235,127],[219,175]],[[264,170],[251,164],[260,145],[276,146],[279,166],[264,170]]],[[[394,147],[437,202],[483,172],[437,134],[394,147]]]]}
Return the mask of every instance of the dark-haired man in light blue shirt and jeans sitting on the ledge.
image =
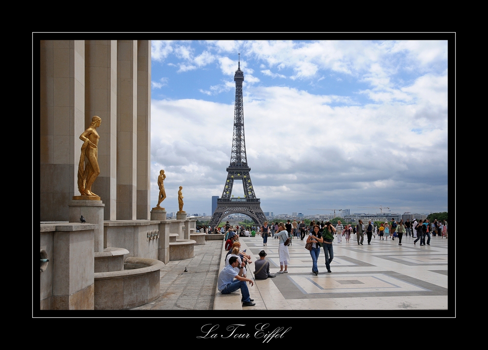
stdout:
{"type": "Polygon", "coordinates": [[[251,286],[253,286],[254,283],[252,279],[242,276],[244,266],[244,262],[241,266],[239,266],[239,261],[237,261],[237,257],[230,257],[229,264],[226,265],[219,274],[219,279],[217,280],[217,288],[222,294],[229,294],[240,289],[242,294],[241,301],[243,303],[243,306],[254,306],[256,305],[256,303],[253,303],[254,299],[251,299],[249,297],[249,290],[247,289],[246,282],[249,282],[251,286]],[[234,268],[236,267],[239,267],[239,273],[234,270],[234,268]],[[234,277],[236,278],[236,280],[234,280],[234,277]]]}

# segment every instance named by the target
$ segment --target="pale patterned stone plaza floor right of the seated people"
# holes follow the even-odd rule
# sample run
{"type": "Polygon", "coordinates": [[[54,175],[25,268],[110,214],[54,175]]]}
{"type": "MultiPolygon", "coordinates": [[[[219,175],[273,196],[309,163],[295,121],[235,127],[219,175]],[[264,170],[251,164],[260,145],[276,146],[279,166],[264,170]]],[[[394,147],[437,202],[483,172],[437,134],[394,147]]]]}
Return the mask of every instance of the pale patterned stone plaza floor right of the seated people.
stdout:
{"type": "MultiPolygon", "coordinates": [[[[366,237],[365,237],[366,238],[366,237]]],[[[258,257],[264,249],[270,272],[280,268],[278,240],[242,239],[258,257]]],[[[447,310],[447,241],[432,237],[430,245],[413,244],[413,238],[371,240],[358,245],[343,239],[334,243],[332,273],[325,269],[323,250],[319,275],[311,273],[312,258],[305,240],[289,246],[288,274],[258,280],[249,288],[256,310],[447,310]],[[421,296],[421,297],[419,297],[421,296]]],[[[244,308],[250,310],[251,308],[244,308]]]]}

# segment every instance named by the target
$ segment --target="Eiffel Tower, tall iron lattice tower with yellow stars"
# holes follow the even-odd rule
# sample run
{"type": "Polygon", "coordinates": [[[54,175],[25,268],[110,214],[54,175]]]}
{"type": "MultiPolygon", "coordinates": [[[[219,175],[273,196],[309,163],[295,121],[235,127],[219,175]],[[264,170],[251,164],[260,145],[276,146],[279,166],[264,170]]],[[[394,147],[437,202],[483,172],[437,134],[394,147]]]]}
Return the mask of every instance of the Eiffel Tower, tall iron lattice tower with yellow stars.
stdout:
{"type": "Polygon", "coordinates": [[[243,108],[243,81],[244,72],[241,71],[241,54],[239,54],[239,66],[234,75],[236,82],[236,102],[234,108],[234,135],[232,137],[232,153],[230,165],[227,167],[227,179],[224,184],[222,197],[217,199],[217,209],[208,223],[217,225],[222,219],[230,214],[240,213],[249,216],[255,223],[262,225],[266,220],[261,202],[256,198],[252,188],[245,153],[244,140],[244,108],[243,108]],[[232,187],[235,180],[242,180],[244,187],[244,198],[233,198],[232,187]]]}

